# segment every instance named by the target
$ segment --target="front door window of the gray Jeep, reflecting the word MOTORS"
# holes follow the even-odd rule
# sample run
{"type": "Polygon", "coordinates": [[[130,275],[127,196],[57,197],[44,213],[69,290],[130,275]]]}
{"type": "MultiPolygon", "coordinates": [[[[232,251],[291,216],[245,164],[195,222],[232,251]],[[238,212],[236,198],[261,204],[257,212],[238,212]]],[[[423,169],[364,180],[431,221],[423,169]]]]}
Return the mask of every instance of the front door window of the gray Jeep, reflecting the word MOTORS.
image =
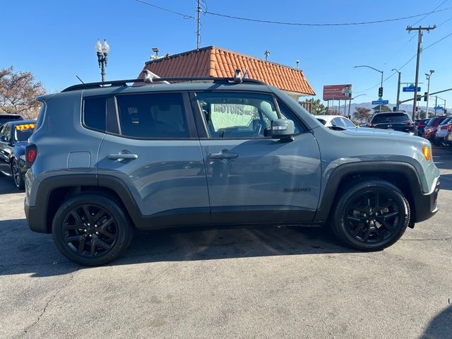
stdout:
{"type": "Polygon", "coordinates": [[[211,138],[263,138],[278,119],[271,95],[196,93],[196,98],[211,138]]]}

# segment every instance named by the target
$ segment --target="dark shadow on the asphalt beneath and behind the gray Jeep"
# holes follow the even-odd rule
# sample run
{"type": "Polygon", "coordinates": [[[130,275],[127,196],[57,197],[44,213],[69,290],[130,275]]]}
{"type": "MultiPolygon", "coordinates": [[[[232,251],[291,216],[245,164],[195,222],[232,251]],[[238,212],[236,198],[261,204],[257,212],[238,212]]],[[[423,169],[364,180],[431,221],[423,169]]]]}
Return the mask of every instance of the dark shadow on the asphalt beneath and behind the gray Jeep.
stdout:
{"type": "MultiPolygon", "coordinates": [[[[0,221],[0,275],[64,275],[83,269],[59,253],[50,234],[24,219],[0,221]]],[[[353,252],[326,227],[136,232],[129,249],[107,265],[353,252]]]]}

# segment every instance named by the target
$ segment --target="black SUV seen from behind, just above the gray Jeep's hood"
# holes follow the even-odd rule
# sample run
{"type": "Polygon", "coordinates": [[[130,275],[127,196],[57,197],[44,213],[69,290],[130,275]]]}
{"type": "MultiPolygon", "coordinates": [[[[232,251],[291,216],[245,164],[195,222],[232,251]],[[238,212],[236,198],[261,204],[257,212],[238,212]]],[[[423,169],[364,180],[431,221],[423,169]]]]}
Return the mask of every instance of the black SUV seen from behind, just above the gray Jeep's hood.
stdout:
{"type": "Polygon", "coordinates": [[[417,135],[415,123],[406,112],[376,113],[367,126],[373,129],[389,129],[417,135]]]}

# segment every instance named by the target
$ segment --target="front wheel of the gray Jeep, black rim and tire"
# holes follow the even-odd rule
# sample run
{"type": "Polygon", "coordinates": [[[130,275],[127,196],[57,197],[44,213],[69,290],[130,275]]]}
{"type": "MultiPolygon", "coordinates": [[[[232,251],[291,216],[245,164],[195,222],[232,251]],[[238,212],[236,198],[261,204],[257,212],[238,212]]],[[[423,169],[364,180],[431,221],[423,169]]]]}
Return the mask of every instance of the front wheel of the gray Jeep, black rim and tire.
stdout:
{"type": "Polygon", "coordinates": [[[333,206],[331,229],[347,246],[379,251],[402,237],[410,223],[410,205],[403,193],[383,180],[349,186],[333,206]]]}

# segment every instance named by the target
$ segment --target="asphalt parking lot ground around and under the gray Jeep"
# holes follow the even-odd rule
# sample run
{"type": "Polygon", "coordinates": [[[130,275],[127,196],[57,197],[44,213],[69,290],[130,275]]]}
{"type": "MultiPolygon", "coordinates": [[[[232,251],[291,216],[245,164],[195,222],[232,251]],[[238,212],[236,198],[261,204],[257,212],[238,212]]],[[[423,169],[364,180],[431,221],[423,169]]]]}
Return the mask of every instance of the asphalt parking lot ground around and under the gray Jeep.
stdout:
{"type": "Polygon", "coordinates": [[[452,338],[452,150],[433,154],[441,210],[384,251],[322,229],[158,232],[97,268],[31,232],[0,175],[0,338],[452,338]]]}

